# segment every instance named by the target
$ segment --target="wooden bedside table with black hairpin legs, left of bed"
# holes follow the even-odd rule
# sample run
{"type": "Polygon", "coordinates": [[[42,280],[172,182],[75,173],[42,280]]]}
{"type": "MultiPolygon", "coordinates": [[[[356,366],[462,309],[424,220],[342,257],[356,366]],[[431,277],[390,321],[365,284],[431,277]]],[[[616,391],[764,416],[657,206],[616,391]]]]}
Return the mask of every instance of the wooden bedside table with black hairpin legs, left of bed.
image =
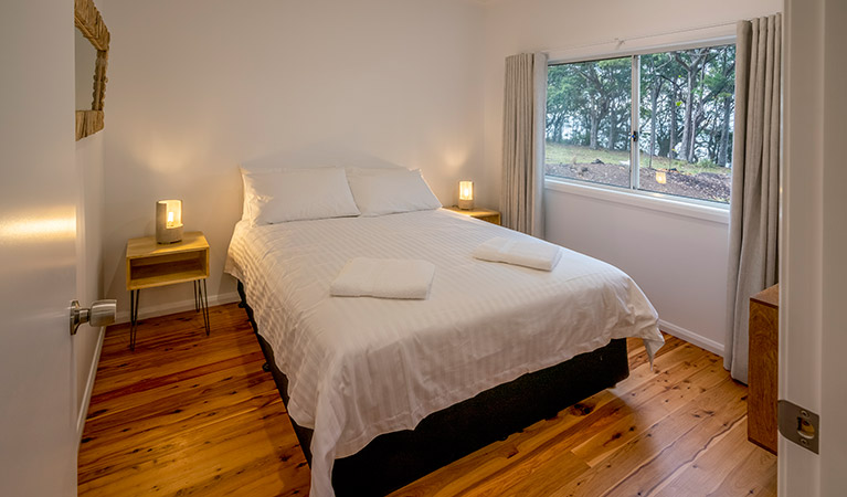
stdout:
{"type": "Polygon", "coordinates": [[[209,242],[200,231],[182,235],[182,241],[160,245],[156,236],[127,241],[127,289],[129,290],[129,348],[135,350],[138,332],[138,303],[142,288],[194,283],[194,310],[203,311],[209,335],[209,242]]]}

